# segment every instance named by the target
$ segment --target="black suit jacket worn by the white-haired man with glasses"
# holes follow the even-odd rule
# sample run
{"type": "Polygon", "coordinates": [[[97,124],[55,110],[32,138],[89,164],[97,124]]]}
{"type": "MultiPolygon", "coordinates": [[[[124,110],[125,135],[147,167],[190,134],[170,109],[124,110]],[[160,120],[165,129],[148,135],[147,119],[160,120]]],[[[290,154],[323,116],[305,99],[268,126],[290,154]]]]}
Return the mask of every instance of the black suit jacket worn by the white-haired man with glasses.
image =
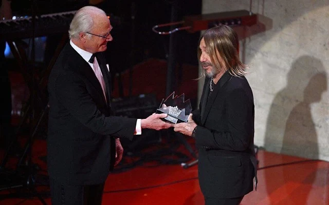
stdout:
{"type": "Polygon", "coordinates": [[[71,185],[105,182],[113,169],[115,137],[133,138],[136,119],[111,115],[111,75],[102,53],[96,56],[106,84],[69,44],[49,80],[47,167],[49,177],[71,185]]]}

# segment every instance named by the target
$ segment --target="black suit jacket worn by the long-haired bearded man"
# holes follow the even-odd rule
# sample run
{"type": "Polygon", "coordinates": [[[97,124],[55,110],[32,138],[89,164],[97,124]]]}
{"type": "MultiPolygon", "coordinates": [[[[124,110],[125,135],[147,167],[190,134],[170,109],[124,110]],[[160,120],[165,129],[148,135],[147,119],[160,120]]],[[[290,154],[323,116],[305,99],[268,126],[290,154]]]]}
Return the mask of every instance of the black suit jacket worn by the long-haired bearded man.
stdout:
{"type": "Polygon", "coordinates": [[[240,197],[253,190],[255,175],[253,94],[245,77],[228,72],[208,98],[209,83],[193,112],[199,185],[206,197],[240,197]]]}

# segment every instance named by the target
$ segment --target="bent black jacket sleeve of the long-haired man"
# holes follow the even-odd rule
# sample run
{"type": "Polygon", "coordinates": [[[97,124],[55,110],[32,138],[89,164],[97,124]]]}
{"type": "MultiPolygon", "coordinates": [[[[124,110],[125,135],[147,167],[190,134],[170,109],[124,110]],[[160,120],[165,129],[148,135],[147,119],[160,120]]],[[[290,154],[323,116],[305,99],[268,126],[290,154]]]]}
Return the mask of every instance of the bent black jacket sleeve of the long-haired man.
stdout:
{"type": "MultiPolygon", "coordinates": [[[[224,103],[226,116],[226,128],[214,129],[198,127],[196,129],[196,147],[209,147],[230,151],[244,151],[248,149],[253,132],[253,100],[243,89],[235,89],[227,95],[224,103]]],[[[213,112],[214,109],[211,111],[213,112]]],[[[212,113],[212,116],[214,113],[212,113]]],[[[218,113],[220,114],[220,113],[218,113]]],[[[215,114],[216,115],[216,114],[215,114]]],[[[214,118],[213,120],[216,120],[214,118]]]]}

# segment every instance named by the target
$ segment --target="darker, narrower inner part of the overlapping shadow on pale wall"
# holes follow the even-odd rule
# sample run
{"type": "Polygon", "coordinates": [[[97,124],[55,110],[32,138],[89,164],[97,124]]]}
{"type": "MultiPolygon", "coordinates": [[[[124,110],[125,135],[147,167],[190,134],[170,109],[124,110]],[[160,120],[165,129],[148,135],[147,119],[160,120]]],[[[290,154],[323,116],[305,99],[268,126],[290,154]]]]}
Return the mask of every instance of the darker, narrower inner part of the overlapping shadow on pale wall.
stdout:
{"type": "Polygon", "coordinates": [[[304,90],[304,99],[291,110],[284,131],[281,153],[311,159],[319,158],[316,125],[312,119],[311,104],[321,100],[327,90],[324,72],[310,78],[304,90]]]}

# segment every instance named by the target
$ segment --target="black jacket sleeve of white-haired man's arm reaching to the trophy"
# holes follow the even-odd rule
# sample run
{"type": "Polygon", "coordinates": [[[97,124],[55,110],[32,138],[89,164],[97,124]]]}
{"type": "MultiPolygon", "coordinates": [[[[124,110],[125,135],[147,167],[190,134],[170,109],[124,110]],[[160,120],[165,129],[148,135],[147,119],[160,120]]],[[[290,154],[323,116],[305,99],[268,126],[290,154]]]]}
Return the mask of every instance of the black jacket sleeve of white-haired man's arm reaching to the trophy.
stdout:
{"type": "Polygon", "coordinates": [[[133,118],[105,116],[97,108],[85,83],[79,75],[66,71],[59,74],[54,85],[54,93],[58,103],[68,113],[95,133],[117,137],[134,136],[136,120],[133,118]]]}

